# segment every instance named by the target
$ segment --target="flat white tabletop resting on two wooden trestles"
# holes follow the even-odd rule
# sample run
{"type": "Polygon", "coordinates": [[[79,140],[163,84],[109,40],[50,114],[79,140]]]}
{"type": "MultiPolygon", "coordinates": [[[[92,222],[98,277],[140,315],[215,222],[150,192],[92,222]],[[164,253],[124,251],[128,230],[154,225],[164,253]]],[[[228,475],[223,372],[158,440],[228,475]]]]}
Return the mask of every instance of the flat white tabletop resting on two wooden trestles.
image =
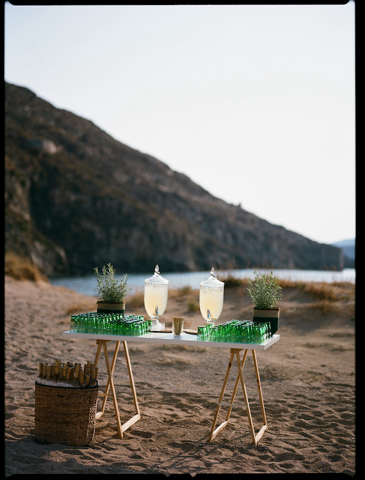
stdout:
{"type": "Polygon", "coordinates": [[[266,350],[280,339],[280,335],[273,335],[270,339],[261,344],[253,343],[231,343],[231,342],[206,342],[198,340],[197,335],[186,332],[181,335],[172,333],[149,331],[143,335],[133,337],[132,335],[104,335],[104,334],[81,334],[76,330],[67,330],[62,332],[62,337],[94,339],[94,340],[121,340],[123,342],[143,342],[143,343],[162,343],[171,345],[199,345],[203,347],[217,348],[240,348],[249,350],[266,350]]]}

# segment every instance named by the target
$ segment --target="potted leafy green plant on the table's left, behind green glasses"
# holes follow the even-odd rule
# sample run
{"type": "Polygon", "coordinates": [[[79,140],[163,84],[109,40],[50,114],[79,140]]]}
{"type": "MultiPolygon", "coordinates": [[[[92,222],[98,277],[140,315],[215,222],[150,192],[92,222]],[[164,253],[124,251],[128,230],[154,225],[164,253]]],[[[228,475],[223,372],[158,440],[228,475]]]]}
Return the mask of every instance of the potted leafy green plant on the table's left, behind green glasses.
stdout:
{"type": "MultiPolygon", "coordinates": [[[[128,275],[116,276],[116,271],[110,263],[102,268],[102,274],[98,268],[94,268],[96,274],[98,293],[97,312],[125,313],[125,297],[127,295],[128,275]]],[[[131,290],[131,288],[129,288],[131,290]]]]}

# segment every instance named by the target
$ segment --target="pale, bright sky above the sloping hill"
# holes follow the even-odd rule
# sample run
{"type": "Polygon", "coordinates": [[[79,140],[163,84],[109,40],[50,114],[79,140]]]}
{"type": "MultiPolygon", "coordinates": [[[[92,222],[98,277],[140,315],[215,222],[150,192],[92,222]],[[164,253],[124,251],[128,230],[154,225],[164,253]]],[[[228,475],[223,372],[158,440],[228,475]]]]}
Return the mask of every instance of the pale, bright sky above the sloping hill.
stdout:
{"type": "Polygon", "coordinates": [[[214,196],[355,238],[355,5],[5,5],[5,80],[214,196]]]}

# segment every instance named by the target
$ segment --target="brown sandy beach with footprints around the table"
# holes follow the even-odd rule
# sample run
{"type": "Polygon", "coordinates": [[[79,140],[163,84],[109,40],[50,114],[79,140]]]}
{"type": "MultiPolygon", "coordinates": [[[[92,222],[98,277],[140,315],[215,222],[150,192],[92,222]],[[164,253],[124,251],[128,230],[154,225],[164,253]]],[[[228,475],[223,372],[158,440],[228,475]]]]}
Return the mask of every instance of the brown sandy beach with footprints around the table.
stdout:
{"type": "MultiPolygon", "coordinates": [[[[339,290],[340,291],[340,290],[339,290]]],[[[212,442],[208,436],[225,377],[229,349],[129,342],[141,419],[118,437],[113,402],[96,424],[92,444],[41,444],[34,437],[34,381],[39,361],[93,361],[95,341],[67,339],[70,314],[95,311],[96,298],[47,282],[5,278],[5,473],[234,474],[355,471],[354,291],[318,302],[300,288],[284,288],[280,340],[257,353],[268,428],[252,444],[245,410],[212,442]]],[[[161,320],[202,324],[199,292],[171,292],[161,320]]],[[[130,302],[131,304],[132,302],[130,302]]],[[[219,322],[250,318],[242,287],[226,289],[219,322]]],[[[127,313],[143,313],[133,308],[127,313]]],[[[112,350],[112,348],[110,348],[112,350]]],[[[111,352],[112,355],[112,352],[111,352]]],[[[103,357],[98,381],[106,382],[103,357]]],[[[236,370],[234,373],[236,374],[236,370]]],[[[232,381],[235,375],[232,376],[232,381]]],[[[252,356],[244,378],[255,426],[261,424],[252,356]]],[[[133,403],[121,348],[115,384],[122,422],[133,403]]],[[[230,392],[229,386],[227,392],[230,392]]],[[[239,393],[237,401],[243,402],[239,393]]],[[[222,418],[226,410],[222,407],[222,418]]]]}

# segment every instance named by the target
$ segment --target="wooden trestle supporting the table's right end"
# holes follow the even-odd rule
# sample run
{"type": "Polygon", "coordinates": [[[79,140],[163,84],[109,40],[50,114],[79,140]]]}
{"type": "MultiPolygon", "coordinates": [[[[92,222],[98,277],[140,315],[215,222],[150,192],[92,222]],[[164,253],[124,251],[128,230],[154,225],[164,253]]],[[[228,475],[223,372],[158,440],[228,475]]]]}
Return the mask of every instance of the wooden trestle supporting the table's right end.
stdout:
{"type": "Polygon", "coordinates": [[[264,431],[267,428],[264,400],[263,400],[262,391],[261,391],[259,366],[258,366],[258,363],[257,363],[256,353],[255,353],[254,350],[252,350],[253,364],[254,364],[255,373],[256,373],[256,379],[257,379],[259,397],[260,397],[260,404],[261,404],[261,412],[262,412],[262,418],[263,418],[263,422],[264,422],[264,425],[261,428],[261,430],[257,434],[255,434],[255,432],[254,432],[252,417],[251,417],[251,410],[250,410],[250,407],[249,407],[249,402],[248,402],[247,393],[246,393],[246,387],[245,387],[244,380],[243,380],[243,375],[242,375],[242,370],[243,370],[243,366],[244,366],[245,361],[246,361],[248,349],[245,349],[244,354],[243,354],[243,358],[242,358],[242,361],[241,361],[240,352],[242,350],[243,349],[237,349],[237,348],[231,348],[231,350],[230,350],[231,351],[231,357],[230,357],[230,361],[228,363],[226,377],[225,377],[225,380],[223,382],[221,396],[220,396],[220,399],[218,401],[218,405],[217,405],[217,408],[216,408],[216,411],[215,411],[213,425],[211,427],[211,431],[210,431],[208,441],[211,441],[217,435],[217,433],[220,432],[227,425],[228,420],[229,420],[230,415],[231,415],[231,412],[232,412],[232,407],[233,407],[233,403],[234,403],[234,399],[235,399],[235,396],[236,396],[236,392],[237,392],[237,388],[238,388],[239,383],[241,383],[241,386],[242,386],[242,392],[243,392],[243,396],[244,396],[244,400],[245,400],[245,404],[246,404],[248,423],[249,423],[249,427],[250,427],[250,430],[251,430],[251,435],[252,435],[252,440],[253,440],[254,445],[257,445],[258,441],[262,437],[262,434],[264,433],[264,431]],[[234,390],[233,390],[231,402],[226,403],[226,402],[223,402],[223,397],[224,397],[224,394],[225,394],[225,391],[226,391],[227,381],[228,381],[228,377],[229,377],[229,374],[230,374],[230,371],[231,371],[231,367],[232,367],[232,363],[233,363],[233,359],[234,359],[235,355],[236,355],[236,359],[237,359],[238,375],[237,375],[236,384],[235,384],[235,387],[234,387],[234,390]],[[219,425],[217,428],[215,428],[215,425],[216,425],[216,422],[217,422],[217,419],[218,419],[218,414],[221,410],[222,405],[228,405],[229,406],[228,413],[227,413],[227,416],[226,416],[226,420],[223,423],[221,423],[221,425],[219,425]]]}

